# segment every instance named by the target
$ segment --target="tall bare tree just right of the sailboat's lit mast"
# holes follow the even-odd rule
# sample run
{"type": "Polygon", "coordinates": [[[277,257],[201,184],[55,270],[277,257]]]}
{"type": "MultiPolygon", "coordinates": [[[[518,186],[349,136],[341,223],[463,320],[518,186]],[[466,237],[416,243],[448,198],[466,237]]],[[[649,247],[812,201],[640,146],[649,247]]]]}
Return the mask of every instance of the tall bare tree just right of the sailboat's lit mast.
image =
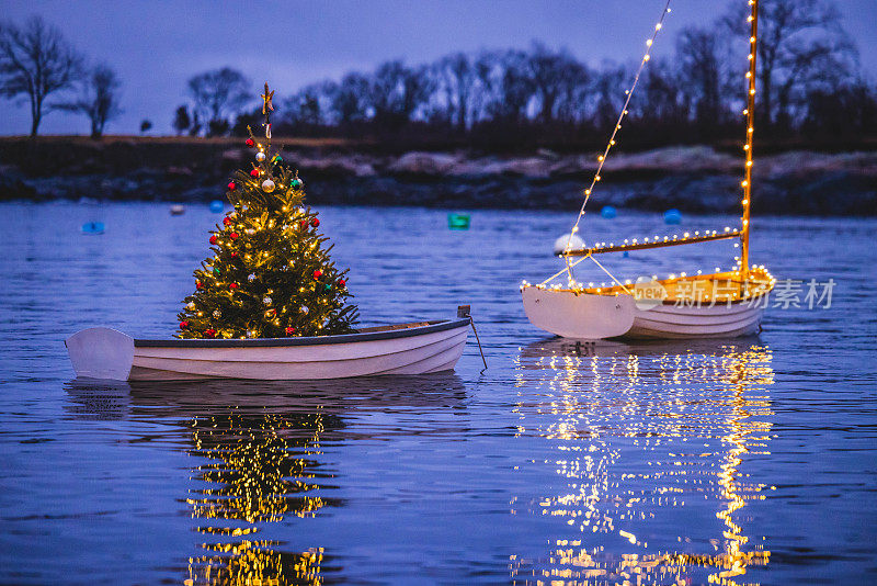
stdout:
{"type": "MultiPolygon", "coordinates": [[[[749,40],[748,7],[734,7],[721,23],[749,40]]],[[[834,69],[857,60],[855,47],[830,0],[762,0],[759,4],[759,71],[762,120],[772,126],[790,120],[795,93],[834,69]]]]}

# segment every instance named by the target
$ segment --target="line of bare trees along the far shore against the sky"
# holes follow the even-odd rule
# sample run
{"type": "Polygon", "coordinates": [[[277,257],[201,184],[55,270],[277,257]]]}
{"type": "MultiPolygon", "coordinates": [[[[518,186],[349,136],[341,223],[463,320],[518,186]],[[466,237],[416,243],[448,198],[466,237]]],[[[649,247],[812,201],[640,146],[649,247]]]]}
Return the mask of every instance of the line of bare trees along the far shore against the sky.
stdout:
{"type": "MultiPolygon", "coordinates": [[[[737,2],[708,26],[691,26],[652,58],[629,106],[625,140],[717,143],[739,138],[748,69],[748,5],[737,2]]],[[[645,48],[645,47],[643,47],[645,48]]],[[[877,86],[833,0],[761,0],[758,123],[763,137],[851,140],[877,135],[877,86]]],[[[35,61],[36,59],[34,59],[35,61]]],[[[613,128],[639,61],[597,66],[566,49],[452,53],[434,63],[390,60],[275,100],[275,135],[410,139],[485,147],[599,142],[613,128]]],[[[31,65],[33,70],[36,67],[31,65]]],[[[118,112],[115,75],[82,59],[39,19],[0,26],[0,92],[27,94],[32,134],[48,93],[81,87],[78,100],[53,108],[81,112],[99,136],[118,112]],[[44,46],[43,80],[13,59],[16,47],[44,46]],[[87,74],[83,74],[87,71],[87,74]]],[[[257,127],[260,110],[244,75],[225,67],[192,77],[189,103],[173,127],[192,136],[239,135],[257,127]]]]}

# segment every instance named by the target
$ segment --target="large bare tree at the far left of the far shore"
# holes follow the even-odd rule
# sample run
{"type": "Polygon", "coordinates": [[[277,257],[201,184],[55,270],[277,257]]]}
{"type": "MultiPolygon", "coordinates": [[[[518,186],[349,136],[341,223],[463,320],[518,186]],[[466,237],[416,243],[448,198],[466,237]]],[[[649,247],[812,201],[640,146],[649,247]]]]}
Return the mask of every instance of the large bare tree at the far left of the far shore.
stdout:
{"type": "Polygon", "coordinates": [[[45,100],[69,89],[79,78],[82,59],[60,31],[32,16],[23,26],[0,23],[0,95],[26,95],[31,105],[31,136],[36,136],[45,100]]]}

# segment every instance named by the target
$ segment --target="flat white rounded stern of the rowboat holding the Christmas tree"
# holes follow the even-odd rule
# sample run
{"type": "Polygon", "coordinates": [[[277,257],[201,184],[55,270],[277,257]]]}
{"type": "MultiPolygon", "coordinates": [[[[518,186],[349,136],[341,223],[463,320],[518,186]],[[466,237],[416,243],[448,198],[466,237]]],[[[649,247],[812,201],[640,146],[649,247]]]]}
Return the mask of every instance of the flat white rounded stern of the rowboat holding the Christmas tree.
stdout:
{"type": "Polygon", "coordinates": [[[134,364],[134,338],[111,328],[77,331],[64,342],[78,377],[127,381],[134,364]]]}

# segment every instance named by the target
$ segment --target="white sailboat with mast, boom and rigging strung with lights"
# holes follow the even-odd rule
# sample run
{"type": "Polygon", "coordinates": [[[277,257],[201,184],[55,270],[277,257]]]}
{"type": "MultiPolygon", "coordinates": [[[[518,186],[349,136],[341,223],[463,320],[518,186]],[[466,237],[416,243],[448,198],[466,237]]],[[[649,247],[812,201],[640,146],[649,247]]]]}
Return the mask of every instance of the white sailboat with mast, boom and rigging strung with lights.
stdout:
{"type": "Polygon", "coordinates": [[[521,295],[529,322],[538,328],[566,338],[603,339],[626,338],[717,338],[756,334],[766,308],[770,292],[776,280],[763,264],[750,264],[750,205],[752,201],[752,145],[755,124],[755,64],[758,47],[759,2],[748,0],[750,13],[749,70],[747,72],[747,121],[743,151],[742,215],[740,227],[684,233],[674,236],[634,238],[623,244],[594,243],[590,246],[578,236],[584,217],[585,205],[600,173],[615,146],[622,122],[637,87],[640,75],[649,61],[651,47],[670,12],[668,0],[651,37],[646,42],[646,53],[639,65],[633,84],[626,91],[627,98],[618,115],[618,121],[610,136],[606,148],[597,157],[597,167],[591,185],[584,190],[581,209],[566,245],[556,250],[565,260],[565,267],[538,284],[524,281],[521,295]],[[740,256],[731,270],[710,274],[671,274],[667,279],[639,279],[637,283],[622,282],[603,263],[599,255],[610,252],[630,252],[651,248],[694,245],[716,240],[739,239],[740,256]],[[573,260],[574,259],[574,260],[573,260]],[[573,268],[584,260],[593,261],[612,279],[608,286],[584,285],[577,281],[573,268]],[[553,283],[566,273],[567,283],[553,283]]]}

